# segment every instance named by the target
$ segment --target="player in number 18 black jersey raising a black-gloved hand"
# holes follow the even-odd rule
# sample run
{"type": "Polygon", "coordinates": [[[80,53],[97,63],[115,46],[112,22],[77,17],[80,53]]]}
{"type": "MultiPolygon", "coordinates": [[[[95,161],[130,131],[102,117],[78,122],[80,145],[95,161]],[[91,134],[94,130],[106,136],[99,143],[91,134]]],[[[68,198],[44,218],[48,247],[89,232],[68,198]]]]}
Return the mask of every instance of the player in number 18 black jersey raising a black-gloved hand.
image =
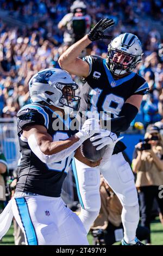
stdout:
{"type": "MultiPolygon", "coordinates": [[[[59,64],[62,69],[84,78],[80,111],[98,113],[103,111],[104,119],[107,118],[108,113],[111,113],[111,118],[116,118],[111,120],[111,131],[118,134],[128,129],[139,111],[143,95],[148,92],[147,82],[133,72],[142,57],[139,38],[130,33],[117,36],[108,46],[106,59],[98,56],[86,56],[83,60],[78,58],[92,41],[110,38],[109,35],[104,35],[104,31],[112,25],[114,25],[112,20],[99,21],[89,34],[60,56],[59,64]]],[[[99,135],[94,136],[91,140],[99,139],[99,141],[93,142],[93,145],[98,145],[98,148],[104,147],[109,134],[110,131],[108,134],[101,132],[101,139],[99,135]]],[[[79,217],[89,231],[101,206],[99,197],[101,172],[123,205],[122,245],[142,245],[135,237],[139,222],[139,204],[133,173],[122,155],[124,149],[124,144],[117,142],[111,157],[109,154],[112,151],[108,149],[108,162],[105,167],[90,168],[76,161],[83,208],[79,217]]]]}

